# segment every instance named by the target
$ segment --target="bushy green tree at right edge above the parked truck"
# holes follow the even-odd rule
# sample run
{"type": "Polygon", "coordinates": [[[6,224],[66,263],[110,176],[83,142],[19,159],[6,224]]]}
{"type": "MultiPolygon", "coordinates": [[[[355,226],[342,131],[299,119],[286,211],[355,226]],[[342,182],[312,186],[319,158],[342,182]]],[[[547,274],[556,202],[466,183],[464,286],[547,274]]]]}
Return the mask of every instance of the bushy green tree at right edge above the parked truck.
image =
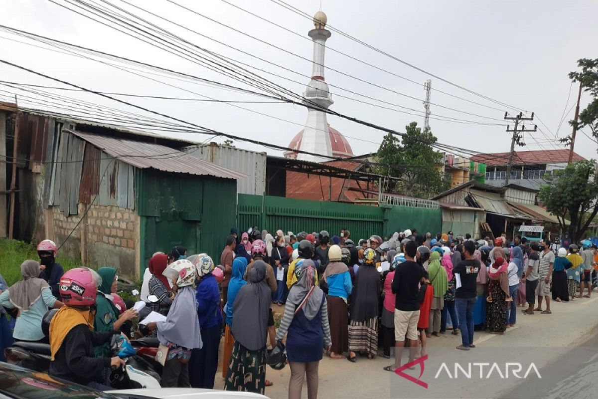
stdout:
{"type": "Polygon", "coordinates": [[[545,176],[539,199],[548,212],[556,215],[563,232],[573,242],[583,238],[585,230],[598,214],[598,170],[596,161],[570,163],[565,170],[545,176]],[[565,225],[565,220],[570,221],[565,225]]]}

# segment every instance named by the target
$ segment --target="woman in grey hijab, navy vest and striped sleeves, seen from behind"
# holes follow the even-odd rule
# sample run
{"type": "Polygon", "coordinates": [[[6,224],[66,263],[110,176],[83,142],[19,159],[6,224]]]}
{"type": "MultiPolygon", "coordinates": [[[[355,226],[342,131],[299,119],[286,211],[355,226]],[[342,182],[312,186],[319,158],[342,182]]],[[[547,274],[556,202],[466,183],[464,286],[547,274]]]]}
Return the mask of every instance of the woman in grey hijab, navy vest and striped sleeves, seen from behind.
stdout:
{"type": "MultiPolygon", "coordinates": [[[[276,341],[282,341],[288,333],[286,355],[291,366],[289,399],[301,399],[301,388],[306,378],[307,397],[315,399],[318,397],[318,367],[322,360],[322,347],[329,349],[332,342],[328,306],[324,291],[315,285],[316,269],[312,260],[298,263],[295,275],[297,284],[289,291],[276,341]]],[[[334,275],[328,278],[331,276],[334,275]]],[[[324,275],[324,278],[327,276],[324,275]]]]}

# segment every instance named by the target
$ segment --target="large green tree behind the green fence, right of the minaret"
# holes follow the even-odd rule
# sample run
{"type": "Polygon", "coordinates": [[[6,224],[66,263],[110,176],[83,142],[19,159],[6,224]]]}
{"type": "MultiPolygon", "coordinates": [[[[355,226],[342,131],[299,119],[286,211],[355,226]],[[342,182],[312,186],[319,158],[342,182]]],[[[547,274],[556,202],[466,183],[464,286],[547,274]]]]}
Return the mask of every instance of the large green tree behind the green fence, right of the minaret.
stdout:
{"type": "Polygon", "coordinates": [[[441,171],[444,156],[428,144],[436,141],[432,132],[429,129],[422,131],[417,122],[405,127],[402,142],[390,133],[384,137],[377,156],[379,163],[385,165],[375,170],[400,179],[389,184],[389,191],[429,198],[447,189],[448,184],[441,171]]]}

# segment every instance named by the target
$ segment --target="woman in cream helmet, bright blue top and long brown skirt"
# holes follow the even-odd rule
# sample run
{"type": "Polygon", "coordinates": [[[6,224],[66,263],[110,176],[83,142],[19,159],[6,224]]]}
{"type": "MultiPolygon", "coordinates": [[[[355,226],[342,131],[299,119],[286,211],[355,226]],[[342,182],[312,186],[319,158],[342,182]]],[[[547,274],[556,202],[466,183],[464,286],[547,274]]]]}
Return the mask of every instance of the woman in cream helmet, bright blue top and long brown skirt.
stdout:
{"type": "Polygon", "coordinates": [[[328,259],[330,263],[324,270],[324,281],[328,284],[328,324],[331,325],[332,330],[330,357],[332,359],[344,359],[343,353],[349,350],[347,300],[353,290],[353,284],[349,267],[341,261],[340,246],[332,245],[330,247],[328,259]]]}

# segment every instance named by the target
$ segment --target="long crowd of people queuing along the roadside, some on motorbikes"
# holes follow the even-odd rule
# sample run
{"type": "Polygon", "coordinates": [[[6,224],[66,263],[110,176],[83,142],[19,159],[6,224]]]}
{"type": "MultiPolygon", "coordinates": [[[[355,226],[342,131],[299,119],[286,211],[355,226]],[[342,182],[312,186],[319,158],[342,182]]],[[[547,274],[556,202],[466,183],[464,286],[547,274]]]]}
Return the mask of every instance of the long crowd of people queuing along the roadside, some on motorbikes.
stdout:
{"type": "MultiPolygon", "coordinates": [[[[355,243],[348,230],[331,237],[254,227],[238,237],[231,229],[218,265],[182,246],[151,257],[141,299],[166,319],[140,331],[160,341],[164,387],[213,388],[221,360],[225,389],[263,394],[272,385],[267,366],[288,361],[289,398],[301,397],[304,380],[316,398],[324,354],[355,363],[358,355],[390,359],[394,351],[384,368],[393,371],[404,348],[413,361],[432,336],[460,334],[456,349],[469,351],[475,331],[514,327],[517,307],[524,316],[550,315],[551,301],[590,297],[598,248],[589,240],[560,243],[416,230],[355,243]],[[277,328],[273,304],[284,307],[277,328]]],[[[51,375],[108,389],[106,369],[123,364],[109,342],[132,336],[140,315],[116,293],[117,269],[65,273],[57,250],[41,242],[39,261],[25,261],[11,287],[0,276],[0,349],[13,340],[48,343],[51,375]],[[52,308],[59,310],[48,336],[41,324],[52,308]]]]}

